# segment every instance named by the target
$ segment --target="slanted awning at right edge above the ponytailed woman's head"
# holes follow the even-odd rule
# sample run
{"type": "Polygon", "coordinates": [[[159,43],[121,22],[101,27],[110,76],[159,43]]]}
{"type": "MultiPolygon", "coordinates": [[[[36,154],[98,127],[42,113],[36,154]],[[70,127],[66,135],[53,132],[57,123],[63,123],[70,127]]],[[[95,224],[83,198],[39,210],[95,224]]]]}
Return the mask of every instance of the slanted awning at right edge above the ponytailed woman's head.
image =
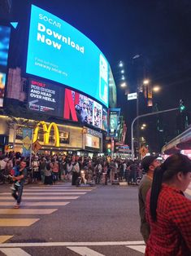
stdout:
{"type": "Polygon", "coordinates": [[[162,153],[171,155],[183,149],[191,149],[191,127],[164,145],[162,153]]]}

